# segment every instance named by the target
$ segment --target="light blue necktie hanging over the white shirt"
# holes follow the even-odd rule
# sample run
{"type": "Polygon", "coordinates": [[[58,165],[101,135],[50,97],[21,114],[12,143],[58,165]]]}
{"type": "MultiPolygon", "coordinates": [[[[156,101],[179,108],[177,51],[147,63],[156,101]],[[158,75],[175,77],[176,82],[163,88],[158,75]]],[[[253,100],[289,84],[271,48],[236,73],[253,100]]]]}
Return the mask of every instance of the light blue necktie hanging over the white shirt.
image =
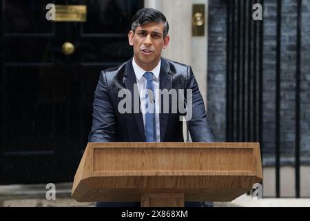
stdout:
{"type": "Polygon", "coordinates": [[[154,105],[154,87],[152,84],[153,73],[146,72],[143,77],[147,80],[147,93],[145,95],[145,137],[146,142],[156,142],[156,126],[155,126],[155,105],[154,105]],[[149,96],[149,90],[152,90],[152,95],[149,96]]]}

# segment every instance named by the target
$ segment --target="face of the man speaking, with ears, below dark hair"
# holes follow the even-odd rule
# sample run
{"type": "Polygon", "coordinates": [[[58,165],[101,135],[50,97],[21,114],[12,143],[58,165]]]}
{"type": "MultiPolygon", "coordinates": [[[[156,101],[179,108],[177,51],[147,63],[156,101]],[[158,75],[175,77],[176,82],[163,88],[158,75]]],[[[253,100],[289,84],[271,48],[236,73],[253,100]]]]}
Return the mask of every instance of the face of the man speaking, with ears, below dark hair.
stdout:
{"type": "Polygon", "coordinates": [[[149,22],[128,34],[130,46],[134,46],[134,60],[144,70],[153,70],[157,66],[161,50],[169,44],[169,35],[163,37],[164,28],[163,23],[149,22]]]}

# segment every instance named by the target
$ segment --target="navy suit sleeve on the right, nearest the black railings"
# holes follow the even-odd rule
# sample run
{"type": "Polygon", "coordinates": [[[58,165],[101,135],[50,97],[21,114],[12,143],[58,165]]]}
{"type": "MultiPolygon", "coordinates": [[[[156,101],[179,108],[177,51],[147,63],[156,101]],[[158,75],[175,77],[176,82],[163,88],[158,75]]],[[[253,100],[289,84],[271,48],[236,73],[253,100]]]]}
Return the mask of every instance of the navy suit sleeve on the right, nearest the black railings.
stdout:
{"type": "Polygon", "coordinates": [[[187,69],[187,89],[192,90],[192,119],[189,119],[189,132],[193,142],[214,142],[214,134],[207,120],[205,104],[200,94],[192,68],[187,69]]]}

